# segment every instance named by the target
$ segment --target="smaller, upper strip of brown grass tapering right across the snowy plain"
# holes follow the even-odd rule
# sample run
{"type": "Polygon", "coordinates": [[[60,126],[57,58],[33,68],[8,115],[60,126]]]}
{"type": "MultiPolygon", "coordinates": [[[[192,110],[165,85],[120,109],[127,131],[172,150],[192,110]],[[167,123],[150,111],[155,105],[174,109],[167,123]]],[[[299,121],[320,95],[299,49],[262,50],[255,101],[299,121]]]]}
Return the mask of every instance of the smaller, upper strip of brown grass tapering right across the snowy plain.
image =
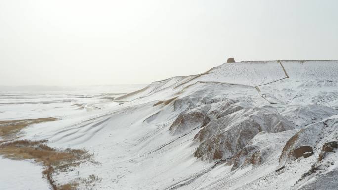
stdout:
{"type": "Polygon", "coordinates": [[[24,119],[12,121],[0,121],[0,137],[4,140],[15,138],[21,129],[31,124],[42,123],[47,121],[56,121],[55,117],[40,118],[40,119],[24,119]]]}

